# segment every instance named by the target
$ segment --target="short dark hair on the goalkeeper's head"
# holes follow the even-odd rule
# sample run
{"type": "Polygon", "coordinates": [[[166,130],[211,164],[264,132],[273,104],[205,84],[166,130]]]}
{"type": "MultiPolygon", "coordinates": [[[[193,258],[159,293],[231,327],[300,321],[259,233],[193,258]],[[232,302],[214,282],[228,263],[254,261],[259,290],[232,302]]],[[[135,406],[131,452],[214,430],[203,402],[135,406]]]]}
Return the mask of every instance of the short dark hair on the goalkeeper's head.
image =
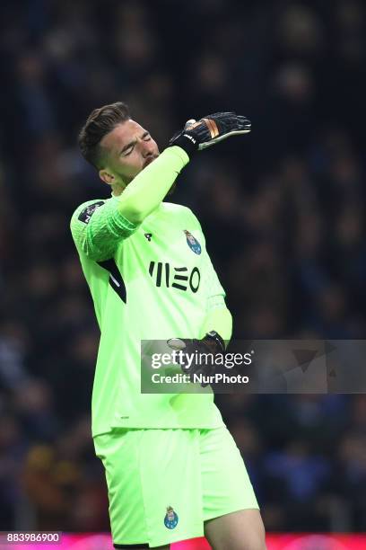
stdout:
{"type": "Polygon", "coordinates": [[[78,137],[78,144],[84,159],[99,170],[102,157],[101,139],[115,129],[118,124],[126,122],[130,118],[128,106],[123,102],[111,103],[94,109],[78,137]]]}

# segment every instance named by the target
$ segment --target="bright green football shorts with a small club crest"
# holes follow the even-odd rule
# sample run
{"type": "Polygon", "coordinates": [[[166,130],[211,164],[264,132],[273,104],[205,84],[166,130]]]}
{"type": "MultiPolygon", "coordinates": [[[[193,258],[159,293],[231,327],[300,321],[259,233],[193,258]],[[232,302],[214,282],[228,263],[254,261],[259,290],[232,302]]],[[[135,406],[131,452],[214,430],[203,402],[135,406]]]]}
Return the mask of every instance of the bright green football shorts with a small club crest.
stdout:
{"type": "Polygon", "coordinates": [[[226,426],[212,430],[115,429],[94,438],[106,471],[115,547],[203,537],[204,522],[258,508],[226,426]]]}

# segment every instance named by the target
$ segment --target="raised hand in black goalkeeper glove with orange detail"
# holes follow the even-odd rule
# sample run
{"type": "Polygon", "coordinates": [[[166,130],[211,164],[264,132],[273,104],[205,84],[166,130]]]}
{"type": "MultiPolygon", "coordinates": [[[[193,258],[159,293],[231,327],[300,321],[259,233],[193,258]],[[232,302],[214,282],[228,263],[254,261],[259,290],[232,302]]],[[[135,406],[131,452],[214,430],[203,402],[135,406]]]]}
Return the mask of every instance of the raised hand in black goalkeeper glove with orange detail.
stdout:
{"type": "Polygon", "coordinates": [[[251,122],[235,112],[215,112],[200,120],[188,120],[184,129],[171,137],[169,145],[179,146],[188,156],[230,136],[248,134],[251,122]]]}

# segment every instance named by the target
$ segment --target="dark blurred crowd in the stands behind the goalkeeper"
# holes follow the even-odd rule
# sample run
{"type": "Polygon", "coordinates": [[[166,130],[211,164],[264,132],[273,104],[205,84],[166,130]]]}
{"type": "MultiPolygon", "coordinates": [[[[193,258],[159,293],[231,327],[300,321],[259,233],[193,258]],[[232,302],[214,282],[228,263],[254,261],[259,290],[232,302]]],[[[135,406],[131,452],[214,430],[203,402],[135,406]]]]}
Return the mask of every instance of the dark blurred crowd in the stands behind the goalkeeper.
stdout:
{"type": "MultiPolygon", "coordinates": [[[[0,25],[0,530],[108,530],[99,332],[68,228],[108,189],[78,129],[122,100],[162,149],[187,119],[247,115],[172,198],[202,223],[234,335],[362,339],[366,7],[23,0],[0,25]]],[[[366,530],[366,395],[217,401],[268,530],[366,530]]]]}

